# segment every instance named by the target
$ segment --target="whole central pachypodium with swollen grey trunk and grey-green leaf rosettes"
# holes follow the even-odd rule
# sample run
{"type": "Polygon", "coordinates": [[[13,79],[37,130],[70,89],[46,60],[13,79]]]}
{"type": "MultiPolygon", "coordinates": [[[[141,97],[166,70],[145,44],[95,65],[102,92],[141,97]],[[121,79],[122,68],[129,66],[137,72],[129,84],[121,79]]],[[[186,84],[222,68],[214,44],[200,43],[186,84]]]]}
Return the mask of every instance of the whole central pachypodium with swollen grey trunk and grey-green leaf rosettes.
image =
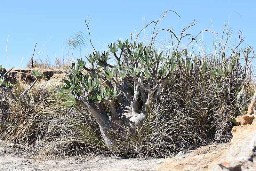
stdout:
{"type": "Polygon", "coordinates": [[[70,105],[70,110],[80,104],[92,114],[112,149],[145,122],[150,106],[179,65],[181,53],[166,55],[128,40],[108,46],[109,52],[88,54],[90,67],[82,58],[73,62],[66,85],[57,92],[67,99],[64,105],[70,105]]]}

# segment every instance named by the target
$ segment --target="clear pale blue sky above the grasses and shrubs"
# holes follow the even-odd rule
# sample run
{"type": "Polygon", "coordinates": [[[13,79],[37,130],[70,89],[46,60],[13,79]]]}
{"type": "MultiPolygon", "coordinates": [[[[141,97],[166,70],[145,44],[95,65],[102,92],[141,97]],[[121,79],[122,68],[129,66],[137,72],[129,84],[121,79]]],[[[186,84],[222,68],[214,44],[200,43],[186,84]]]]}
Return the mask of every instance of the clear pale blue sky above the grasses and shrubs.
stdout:
{"type": "MultiPolygon", "coordinates": [[[[97,51],[104,49],[104,43],[110,44],[117,39],[129,39],[130,33],[136,34],[144,25],[158,20],[167,10],[168,13],[160,27],[181,28],[193,20],[197,25],[188,33],[196,35],[203,29],[219,32],[223,24],[229,26],[235,34],[243,32],[246,44],[256,46],[256,2],[254,0],[161,0],[161,1],[1,1],[0,5],[0,65],[3,67],[22,67],[32,57],[35,43],[35,56],[44,59],[49,56],[62,58],[67,54],[66,38],[74,32],[83,32],[88,40],[87,47],[76,51],[78,58],[92,50],[89,43],[85,18],[91,17],[89,24],[92,43],[97,51]],[[135,31],[136,30],[136,31],[135,31]],[[8,59],[6,55],[7,37],[8,59]]],[[[105,45],[106,46],[106,45],[105,45]]],[[[76,58],[74,56],[74,58],[76,58]]]]}

